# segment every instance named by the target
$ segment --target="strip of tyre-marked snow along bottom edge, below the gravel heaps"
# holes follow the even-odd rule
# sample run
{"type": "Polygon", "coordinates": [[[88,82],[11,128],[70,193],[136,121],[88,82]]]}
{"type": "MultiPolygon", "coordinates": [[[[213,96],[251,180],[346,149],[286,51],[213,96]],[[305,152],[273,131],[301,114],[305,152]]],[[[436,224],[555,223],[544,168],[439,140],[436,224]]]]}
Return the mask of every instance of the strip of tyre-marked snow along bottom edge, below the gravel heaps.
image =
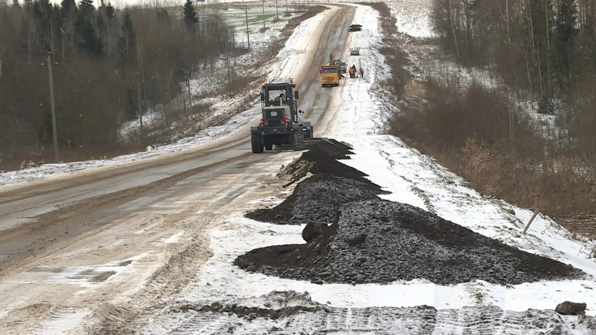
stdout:
{"type": "Polygon", "coordinates": [[[496,306],[436,310],[430,306],[409,308],[333,308],[329,312],[297,312],[278,320],[252,318],[214,312],[168,311],[164,325],[151,325],[141,334],[419,334],[489,335],[504,334],[586,334],[594,319],[563,317],[552,310],[503,311],[496,306]],[[170,323],[172,315],[179,323],[170,323]],[[275,328],[274,328],[275,327],[275,328]],[[302,333],[303,334],[303,333],[302,333]]]}

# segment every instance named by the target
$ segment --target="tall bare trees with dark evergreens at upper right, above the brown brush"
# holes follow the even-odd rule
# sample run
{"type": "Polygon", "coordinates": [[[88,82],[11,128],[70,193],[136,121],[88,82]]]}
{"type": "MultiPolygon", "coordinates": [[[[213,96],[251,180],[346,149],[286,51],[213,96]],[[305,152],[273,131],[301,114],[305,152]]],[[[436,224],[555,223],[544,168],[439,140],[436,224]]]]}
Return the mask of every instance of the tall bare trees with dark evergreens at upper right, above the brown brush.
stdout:
{"type": "Polygon", "coordinates": [[[433,4],[443,49],[462,64],[498,73],[509,92],[529,97],[539,113],[557,114],[555,131],[543,134],[545,139],[554,139],[555,150],[594,171],[596,0],[433,4]]]}

